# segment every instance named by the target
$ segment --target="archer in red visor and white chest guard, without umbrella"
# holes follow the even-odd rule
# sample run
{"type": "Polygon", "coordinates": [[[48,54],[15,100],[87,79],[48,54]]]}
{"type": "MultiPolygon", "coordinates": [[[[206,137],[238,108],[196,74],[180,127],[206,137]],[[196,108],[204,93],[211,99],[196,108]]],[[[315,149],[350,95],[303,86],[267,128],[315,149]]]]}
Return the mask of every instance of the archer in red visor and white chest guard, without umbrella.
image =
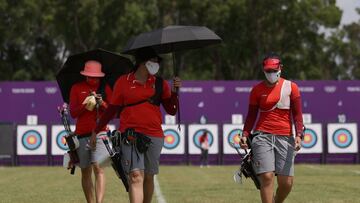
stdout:
{"type": "Polygon", "coordinates": [[[249,147],[247,139],[251,140],[253,168],[260,179],[261,200],[269,203],[283,202],[290,193],[294,159],[296,151],[301,148],[304,133],[299,88],[294,82],[280,77],[282,69],[283,64],[277,54],[269,53],[264,58],[266,80],[251,90],[240,143],[241,148],[246,149],[249,147]],[[254,133],[250,134],[255,122],[254,133]],[[278,183],[275,196],[274,175],[278,183]]]}

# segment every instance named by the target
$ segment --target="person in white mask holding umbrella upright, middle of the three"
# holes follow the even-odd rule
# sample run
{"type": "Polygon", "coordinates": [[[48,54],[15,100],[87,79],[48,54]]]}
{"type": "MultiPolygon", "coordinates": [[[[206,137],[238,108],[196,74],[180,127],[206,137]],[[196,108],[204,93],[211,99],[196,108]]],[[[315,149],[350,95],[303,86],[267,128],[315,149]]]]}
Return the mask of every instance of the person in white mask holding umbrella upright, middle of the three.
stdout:
{"type": "Polygon", "coordinates": [[[120,110],[118,130],[123,138],[121,150],[129,174],[130,202],[151,202],[164,143],[160,104],[168,114],[176,114],[176,90],[181,80],[175,77],[170,88],[167,81],[155,76],[161,58],[150,47],[138,49],[135,61],[134,71],[116,81],[110,106],[93,132],[91,145],[96,146],[96,133],[120,110]]]}

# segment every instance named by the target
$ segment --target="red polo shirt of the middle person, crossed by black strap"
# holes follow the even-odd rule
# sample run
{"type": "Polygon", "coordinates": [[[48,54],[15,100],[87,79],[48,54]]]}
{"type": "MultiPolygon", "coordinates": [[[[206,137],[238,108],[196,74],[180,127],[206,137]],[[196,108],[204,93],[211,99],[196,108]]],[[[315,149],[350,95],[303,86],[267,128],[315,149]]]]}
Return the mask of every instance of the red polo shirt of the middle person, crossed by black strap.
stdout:
{"type": "MultiPolygon", "coordinates": [[[[141,84],[135,79],[134,73],[121,76],[115,83],[111,104],[123,106],[150,98],[155,94],[155,79],[155,76],[149,76],[145,84],[141,84]]],[[[161,99],[170,97],[170,86],[166,80],[163,80],[161,99]]],[[[144,102],[122,110],[119,130],[124,132],[127,128],[134,128],[136,132],[148,136],[163,137],[161,123],[160,106],[144,102]]]]}

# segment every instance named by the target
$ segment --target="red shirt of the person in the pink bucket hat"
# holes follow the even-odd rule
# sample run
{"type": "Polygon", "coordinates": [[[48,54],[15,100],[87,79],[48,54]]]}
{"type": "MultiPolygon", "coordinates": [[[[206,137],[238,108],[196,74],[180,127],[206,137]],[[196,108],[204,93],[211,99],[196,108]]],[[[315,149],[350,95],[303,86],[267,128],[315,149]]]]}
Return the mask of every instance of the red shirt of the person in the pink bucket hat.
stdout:
{"type": "MultiPolygon", "coordinates": [[[[98,87],[90,86],[86,81],[76,83],[71,87],[69,106],[71,117],[76,118],[75,134],[77,135],[91,133],[96,126],[96,110],[89,111],[82,103],[90,92],[96,92],[97,89],[98,87]]],[[[108,85],[105,86],[105,94],[106,98],[100,107],[99,116],[107,108],[107,102],[111,100],[112,91],[108,85]]],[[[106,130],[106,126],[102,130],[106,130]]]]}

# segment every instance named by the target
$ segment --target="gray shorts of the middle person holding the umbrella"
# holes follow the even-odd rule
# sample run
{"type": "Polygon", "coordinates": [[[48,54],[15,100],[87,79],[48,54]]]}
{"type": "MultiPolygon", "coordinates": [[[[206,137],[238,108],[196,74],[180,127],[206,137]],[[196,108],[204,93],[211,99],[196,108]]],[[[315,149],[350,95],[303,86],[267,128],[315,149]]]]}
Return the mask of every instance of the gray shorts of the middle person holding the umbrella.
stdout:
{"type": "Polygon", "coordinates": [[[144,170],[147,174],[159,173],[160,153],[164,145],[164,138],[148,137],[152,143],[145,153],[140,153],[136,150],[135,146],[122,142],[122,162],[127,173],[136,170],[144,170]]]}

